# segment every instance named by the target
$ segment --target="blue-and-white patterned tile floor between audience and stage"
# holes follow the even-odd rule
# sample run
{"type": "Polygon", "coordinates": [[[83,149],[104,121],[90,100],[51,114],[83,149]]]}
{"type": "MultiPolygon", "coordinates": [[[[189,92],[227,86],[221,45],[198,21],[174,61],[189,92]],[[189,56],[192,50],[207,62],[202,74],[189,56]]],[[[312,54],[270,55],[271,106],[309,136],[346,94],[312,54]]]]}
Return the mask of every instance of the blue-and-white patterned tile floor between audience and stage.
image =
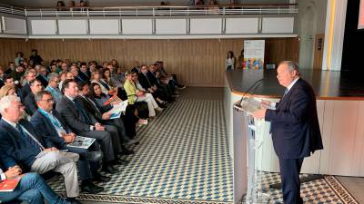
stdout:
{"type": "MultiPolygon", "coordinates": [[[[232,203],[232,161],[227,151],[223,89],[191,88],[147,126],[137,129],[141,143],[130,163],[118,166],[112,180],[99,183],[97,195],[80,199],[109,203],[232,203]]],[[[305,175],[303,175],[305,176],[305,175]]],[[[270,203],[282,203],[278,173],[261,174],[270,203]]],[[[49,181],[64,192],[61,178],[49,181]]],[[[358,203],[333,176],[302,184],[305,203],[358,203]]]]}

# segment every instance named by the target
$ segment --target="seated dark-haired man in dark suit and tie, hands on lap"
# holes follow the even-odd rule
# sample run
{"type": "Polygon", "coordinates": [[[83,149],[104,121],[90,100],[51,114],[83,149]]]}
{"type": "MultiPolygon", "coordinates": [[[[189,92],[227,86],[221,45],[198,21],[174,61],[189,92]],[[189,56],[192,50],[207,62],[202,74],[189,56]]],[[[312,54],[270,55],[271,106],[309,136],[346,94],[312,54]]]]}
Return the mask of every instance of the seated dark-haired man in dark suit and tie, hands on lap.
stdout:
{"type": "Polygon", "coordinates": [[[105,130],[105,126],[93,122],[83,109],[82,104],[75,100],[78,95],[78,88],[74,80],[65,80],[63,91],[65,95],[56,103],[56,111],[60,113],[71,131],[77,135],[96,139],[104,152],[102,170],[115,173],[116,170],[112,167],[113,160],[116,160],[112,135],[105,130]]]}

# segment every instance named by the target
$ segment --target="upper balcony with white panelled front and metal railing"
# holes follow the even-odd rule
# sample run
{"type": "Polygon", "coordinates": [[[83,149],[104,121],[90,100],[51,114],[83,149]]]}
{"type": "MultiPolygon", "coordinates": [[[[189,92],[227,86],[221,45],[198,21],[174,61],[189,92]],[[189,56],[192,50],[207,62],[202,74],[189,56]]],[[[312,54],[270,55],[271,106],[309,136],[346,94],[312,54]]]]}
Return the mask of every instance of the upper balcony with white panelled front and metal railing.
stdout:
{"type": "Polygon", "coordinates": [[[2,37],[293,37],[298,5],[148,5],[21,8],[0,5],[2,37]]]}

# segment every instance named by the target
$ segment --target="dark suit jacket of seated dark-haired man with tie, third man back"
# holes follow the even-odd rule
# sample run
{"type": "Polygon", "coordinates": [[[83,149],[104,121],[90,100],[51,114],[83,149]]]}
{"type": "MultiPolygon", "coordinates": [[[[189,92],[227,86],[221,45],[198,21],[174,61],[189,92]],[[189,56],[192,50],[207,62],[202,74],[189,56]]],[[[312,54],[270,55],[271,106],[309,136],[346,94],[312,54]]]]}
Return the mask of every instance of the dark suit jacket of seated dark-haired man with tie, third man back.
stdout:
{"type": "Polygon", "coordinates": [[[83,121],[82,115],[78,113],[74,102],[71,102],[66,96],[63,96],[56,103],[56,111],[59,112],[62,119],[66,121],[68,127],[76,134],[90,131],[90,125],[94,125],[97,122],[94,117],[89,115],[89,118],[93,123],[86,124],[83,121]]]}

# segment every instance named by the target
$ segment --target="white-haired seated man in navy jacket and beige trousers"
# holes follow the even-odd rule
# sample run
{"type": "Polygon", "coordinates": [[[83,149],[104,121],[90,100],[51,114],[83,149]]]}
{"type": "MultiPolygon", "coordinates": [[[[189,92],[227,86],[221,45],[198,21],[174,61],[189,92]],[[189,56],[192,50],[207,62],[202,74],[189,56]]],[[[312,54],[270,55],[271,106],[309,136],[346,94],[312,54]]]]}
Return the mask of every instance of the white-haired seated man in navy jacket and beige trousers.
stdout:
{"type": "Polygon", "coordinates": [[[78,154],[58,151],[52,142],[42,140],[29,121],[21,120],[24,106],[14,95],[0,100],[0,158],[5,168],[19,165],[23,170],[43,174],[53,170],[65,177],[66,195],[79,195],[76,161],[78,154]]]}

